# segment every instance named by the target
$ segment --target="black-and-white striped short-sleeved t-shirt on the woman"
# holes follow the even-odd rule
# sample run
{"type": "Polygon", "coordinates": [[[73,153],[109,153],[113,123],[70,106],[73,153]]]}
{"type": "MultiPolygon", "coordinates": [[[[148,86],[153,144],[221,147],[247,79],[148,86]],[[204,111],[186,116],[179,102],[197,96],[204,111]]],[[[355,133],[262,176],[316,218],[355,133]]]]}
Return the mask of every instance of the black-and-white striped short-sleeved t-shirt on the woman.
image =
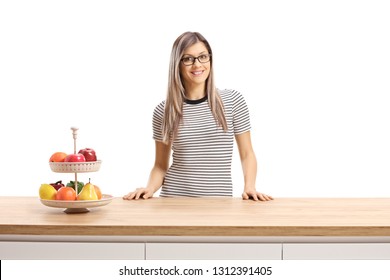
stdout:
{"type": "MultiPolygon", "coordinates": [[[[250,130],[248,107],[234,90],[219,92],[228,130],[214,119],[207,99],[183,104],[183,120],[172,143],[172,164],[160,196],[232,196],[231,162],[234,135],[250,130]]],[[[153,138],[162,141],[165,101],[153,113],[153,138]]]]}

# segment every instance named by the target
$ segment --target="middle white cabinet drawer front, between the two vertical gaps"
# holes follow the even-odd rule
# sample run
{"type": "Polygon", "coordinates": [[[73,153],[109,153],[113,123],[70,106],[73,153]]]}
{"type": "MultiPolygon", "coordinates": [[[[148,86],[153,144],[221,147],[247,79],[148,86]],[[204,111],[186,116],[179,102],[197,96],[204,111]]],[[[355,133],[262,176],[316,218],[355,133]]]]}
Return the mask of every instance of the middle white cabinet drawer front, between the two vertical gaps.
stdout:
{"type": "Polygon", "coordinates": [[[146,243],[147,260],[280,260],[282,244],[146,243]]]}

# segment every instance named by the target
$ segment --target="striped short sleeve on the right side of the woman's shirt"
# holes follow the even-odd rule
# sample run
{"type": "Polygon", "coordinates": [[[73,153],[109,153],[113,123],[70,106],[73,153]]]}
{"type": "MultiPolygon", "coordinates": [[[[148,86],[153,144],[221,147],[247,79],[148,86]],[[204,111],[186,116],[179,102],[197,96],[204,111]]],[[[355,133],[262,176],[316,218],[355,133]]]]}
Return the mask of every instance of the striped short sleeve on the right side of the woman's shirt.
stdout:
{"type": "Polygon", "coordinates": [[[244,97],[237,91],[232,92],[234,134],[241,134],[251,129],[249,109],[244,97]]]}

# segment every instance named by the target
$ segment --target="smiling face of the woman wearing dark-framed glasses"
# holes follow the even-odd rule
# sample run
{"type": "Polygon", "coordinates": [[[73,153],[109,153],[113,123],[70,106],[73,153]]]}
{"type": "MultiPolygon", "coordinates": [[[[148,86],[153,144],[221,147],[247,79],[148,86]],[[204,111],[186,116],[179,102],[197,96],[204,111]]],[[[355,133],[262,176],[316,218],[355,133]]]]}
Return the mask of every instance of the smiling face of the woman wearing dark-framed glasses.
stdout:
{"type": "MultiPolygon", "coordinates": [[[[184,50],[182,59],[188,57],[197,58],[202,55],[209,55],[209,52],[202,42],[198,42],[184,50]]],[[[204,58],[205,57],[203,56],[200,60],[202,61],[204,58]]],[[[210,61],[201,63],[199,62],[199,59],[195,59],[194,64],[192,65],[185,65],[183,61],[181,61],[180,74],[184,86],[188,88],[202,84],[204,85],[210,74],[210,65],[210,61]]]]}

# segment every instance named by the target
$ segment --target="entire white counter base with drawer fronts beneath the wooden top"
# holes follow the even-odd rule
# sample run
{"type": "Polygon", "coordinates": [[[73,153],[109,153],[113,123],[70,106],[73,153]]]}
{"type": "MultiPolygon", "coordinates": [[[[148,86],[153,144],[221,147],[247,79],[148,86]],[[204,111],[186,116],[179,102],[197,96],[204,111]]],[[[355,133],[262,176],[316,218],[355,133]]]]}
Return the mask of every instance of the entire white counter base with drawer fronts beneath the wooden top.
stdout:
{"type": "Polygon", "coordinates": [[[0,259],[390,260],[390,237],[0,235],[0,259]]]}

